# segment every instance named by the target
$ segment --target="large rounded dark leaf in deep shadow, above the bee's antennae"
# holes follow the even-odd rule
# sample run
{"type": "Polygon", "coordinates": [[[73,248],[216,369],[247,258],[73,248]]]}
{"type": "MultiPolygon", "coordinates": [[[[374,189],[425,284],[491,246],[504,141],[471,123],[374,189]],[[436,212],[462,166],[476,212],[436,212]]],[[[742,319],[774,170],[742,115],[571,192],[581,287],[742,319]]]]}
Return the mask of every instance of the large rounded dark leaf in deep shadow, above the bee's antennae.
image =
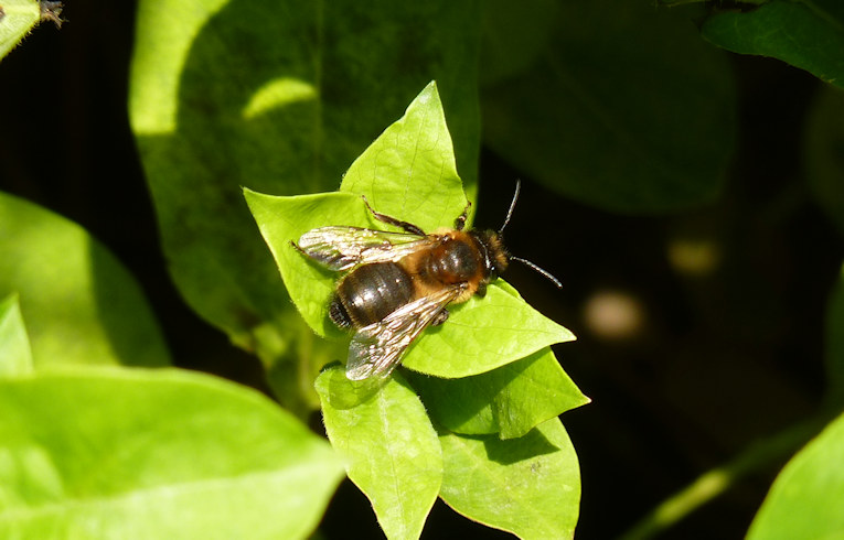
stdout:
{"type": "MultiPolygon", "coordinates": [[[[521,4],[490,2],[508,26],[521,4]]],[[[701,205],[724,183],[735,141],[726,55],[703,43],[683,10],[648,2],[557,2],[541,54],[483,88],[484,141],[558,193],[613,212],[701,205]]],[[[530,25],[489,32],[495,51],[539,37],[530,25]]],[[[538,45],[538,44],[537,44],[538,45]]],[[[503,58],[502,62],[508,62],[503,58]]]]}

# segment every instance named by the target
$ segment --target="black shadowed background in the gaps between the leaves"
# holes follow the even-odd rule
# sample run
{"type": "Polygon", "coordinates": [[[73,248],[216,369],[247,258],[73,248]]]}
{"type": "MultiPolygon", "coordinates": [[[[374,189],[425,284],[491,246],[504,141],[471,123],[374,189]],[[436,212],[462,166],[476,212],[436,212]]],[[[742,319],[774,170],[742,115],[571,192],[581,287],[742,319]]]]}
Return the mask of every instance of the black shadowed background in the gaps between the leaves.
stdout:
{"type": "MultiPolygon", "coordinates": [[[[133,2],[76,2],[64,15],[61,30],[42,25],[0,63],[0,188],[107,245],[140,281],[180,366],[260,387],[257,360],[188,310],[164,270],[126,110],[133,2]]],[[[803,122],[819,83],[776,61],[735,57],[734,65],[738,145],[723,196],[706,207],[608,214],[482,152],[477,223],[498,228],[514,179],[523,179],[508,244],[564,289],[516,264],[508,279],[578,336],[555,350],[594,401],[563,417],[581,463],[579,538],[619,534],[821,401],[823,314],[844,245],[801,176],[803,122]],[[713,264],[679,269],[667,256],[679,238],[708,246],[713,264]],[[606,317],[586,316],[608,298],[610,313],[628,306],[630,333],[607,334],[606,317]]],[[[741,537],[778,466],[761,467],[664,538],[741,537]]],[[[378,536],[368,503],[348,480],[322,532],[378,536]]],[[[441,503],[424,537],[510,538],[441,503]]]]}

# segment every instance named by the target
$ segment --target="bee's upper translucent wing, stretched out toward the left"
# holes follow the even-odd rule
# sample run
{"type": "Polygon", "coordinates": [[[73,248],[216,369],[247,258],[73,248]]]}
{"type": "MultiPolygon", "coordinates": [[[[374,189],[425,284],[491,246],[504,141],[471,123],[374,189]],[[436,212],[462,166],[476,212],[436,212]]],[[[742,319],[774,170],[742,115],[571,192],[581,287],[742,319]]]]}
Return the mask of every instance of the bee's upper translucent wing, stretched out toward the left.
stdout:
{"type": "Polygon", "coordinates": [[[431,237],[360,227],[320,227],[299,238],[299,250],[330,270],[397,261],[430,246],[431,237]]]}

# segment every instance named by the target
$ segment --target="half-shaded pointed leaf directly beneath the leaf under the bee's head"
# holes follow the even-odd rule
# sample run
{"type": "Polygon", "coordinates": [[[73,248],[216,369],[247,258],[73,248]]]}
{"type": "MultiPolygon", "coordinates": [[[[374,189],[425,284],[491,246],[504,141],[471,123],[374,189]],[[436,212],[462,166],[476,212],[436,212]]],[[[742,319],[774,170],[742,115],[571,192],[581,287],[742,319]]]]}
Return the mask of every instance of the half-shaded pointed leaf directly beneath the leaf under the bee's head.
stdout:
{"type": "Polygon", "coordinates": [[[469,435],[520,438],[539,423],[589,402],[549,348],[473,377],[413,375],[410,382],[438,424],[469,435]]]}

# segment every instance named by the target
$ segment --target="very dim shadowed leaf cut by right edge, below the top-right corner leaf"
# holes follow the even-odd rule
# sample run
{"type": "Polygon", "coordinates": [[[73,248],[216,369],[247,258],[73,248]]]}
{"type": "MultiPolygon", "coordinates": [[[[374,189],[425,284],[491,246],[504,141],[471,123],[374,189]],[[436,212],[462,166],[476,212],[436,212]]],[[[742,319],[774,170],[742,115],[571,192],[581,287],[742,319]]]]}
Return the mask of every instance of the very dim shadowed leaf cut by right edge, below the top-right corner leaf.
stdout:
{"type": "Polygon", "coordinates": [[[803,163],[814,202],[844,235],[844,91],[824,86],[806,119],[803,163]]]}

